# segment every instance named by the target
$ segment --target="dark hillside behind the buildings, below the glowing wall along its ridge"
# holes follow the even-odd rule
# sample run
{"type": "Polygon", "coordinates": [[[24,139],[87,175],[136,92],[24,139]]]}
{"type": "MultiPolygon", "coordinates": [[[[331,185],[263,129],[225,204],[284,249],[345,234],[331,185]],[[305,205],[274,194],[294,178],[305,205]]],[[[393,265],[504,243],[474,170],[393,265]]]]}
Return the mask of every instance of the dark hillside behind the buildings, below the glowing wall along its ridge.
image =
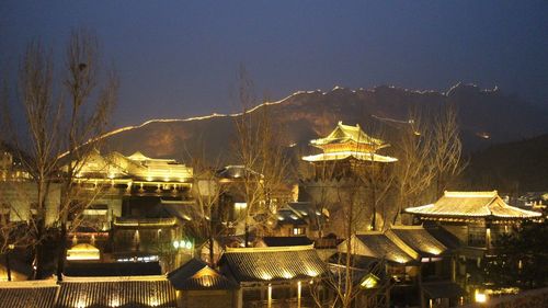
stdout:
{"type": "MultiPolygon", "coordinates": [[[[252,112],[265,109],[285,132],[287,145],[295,144],[302,151],[309,151],[308,141],[329,133],[338,121],[359,123],[366,130],[379,125],[386,127],[385,130],[393,130],[408,121],[409,110],[447,103],[454,103],[458,109],[468,152],[548,132],[546,111],[504,95],[499,89],[481,90],[465,84],[457,84],[446,92],[386,85],[369,90],[336,87],[329,92],[297,92],[278,102],[262,104],[252,112]]],[[[106,144],[110,150],[126,155],[140,150],[152,157],[178,159],[196,148],[204,148],[210,158],[218,156],[230,162],[233,136],[233,115],[212,115],[149,121],[111,133],[106,144]]]]}

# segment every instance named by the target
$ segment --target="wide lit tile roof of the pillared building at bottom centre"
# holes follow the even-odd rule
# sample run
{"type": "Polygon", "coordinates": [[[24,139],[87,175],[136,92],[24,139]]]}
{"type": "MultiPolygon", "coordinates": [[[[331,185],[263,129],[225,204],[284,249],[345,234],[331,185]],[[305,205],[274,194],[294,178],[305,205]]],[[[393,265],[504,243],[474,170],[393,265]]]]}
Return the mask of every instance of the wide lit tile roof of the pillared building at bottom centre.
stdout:
{"type": "Polygon", "coordinates": [[[310,278],[326,271],[312,246],[228,248],[220,267],[239,283],[310,278]]]}

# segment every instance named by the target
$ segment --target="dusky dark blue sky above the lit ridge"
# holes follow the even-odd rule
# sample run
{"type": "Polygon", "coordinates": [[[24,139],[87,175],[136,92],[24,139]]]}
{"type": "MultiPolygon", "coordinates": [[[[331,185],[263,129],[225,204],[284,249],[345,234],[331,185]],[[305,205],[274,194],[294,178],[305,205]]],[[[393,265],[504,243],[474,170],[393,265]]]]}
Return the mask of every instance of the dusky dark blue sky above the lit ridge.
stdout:
{"type": "Polygon", "coordinates": [[[92,28],[121,77],[116,126],[229,112],[258,94],[458,81],[548,105],[548,1],[2,1],[1,67],[92,28]]]}

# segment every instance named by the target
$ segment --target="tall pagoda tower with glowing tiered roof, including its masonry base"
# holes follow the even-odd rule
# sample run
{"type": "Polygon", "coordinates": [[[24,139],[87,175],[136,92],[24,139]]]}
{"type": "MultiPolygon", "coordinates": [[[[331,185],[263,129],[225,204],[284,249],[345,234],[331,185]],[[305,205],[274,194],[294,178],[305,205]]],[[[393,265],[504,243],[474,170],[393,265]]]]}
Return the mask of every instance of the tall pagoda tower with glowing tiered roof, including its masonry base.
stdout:
{"type": "MultiPolygon", "coordinates": [[[[310,146],[321,153],[302,157],[311,164],[312,172],[301,180],[299,201],[310,202],[316,208],[329,216],[328,224],[319,226],[319,236],[341,235],[344,227],[344,210],[349,203],[370,199],[372,187],[378,190],[387,183],[388,167],[397,161],[379,152],[389,147],[381,139],[367,135],[359,125],[350,126],[339,122],[326,137],[313,139],[310,146]],[[372,185],[375,183],[375,185],[372,185]]],[[[378,210],[361,210],[355,220],[358,230],[368,230],[379,221],[378,210]]]]}

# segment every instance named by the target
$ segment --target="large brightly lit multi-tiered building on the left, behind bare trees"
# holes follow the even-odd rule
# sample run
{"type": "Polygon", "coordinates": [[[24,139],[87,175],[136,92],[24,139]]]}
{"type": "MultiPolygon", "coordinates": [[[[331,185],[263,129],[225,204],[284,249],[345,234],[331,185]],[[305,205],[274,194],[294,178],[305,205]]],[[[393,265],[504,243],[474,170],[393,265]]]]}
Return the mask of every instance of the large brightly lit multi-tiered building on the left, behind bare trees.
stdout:
{"type": "MultiPolygon", "coordinates": [[[[158,261],[181,232],[172,207],[190,206],[193,169],[174,159],[92,151],[75,182],[91,196],[70,246],[93,244],[103,251],[109,235],[113,261],[158,261]]],[[[70,247],[69,246],[69,247],[70,247]]]]}

